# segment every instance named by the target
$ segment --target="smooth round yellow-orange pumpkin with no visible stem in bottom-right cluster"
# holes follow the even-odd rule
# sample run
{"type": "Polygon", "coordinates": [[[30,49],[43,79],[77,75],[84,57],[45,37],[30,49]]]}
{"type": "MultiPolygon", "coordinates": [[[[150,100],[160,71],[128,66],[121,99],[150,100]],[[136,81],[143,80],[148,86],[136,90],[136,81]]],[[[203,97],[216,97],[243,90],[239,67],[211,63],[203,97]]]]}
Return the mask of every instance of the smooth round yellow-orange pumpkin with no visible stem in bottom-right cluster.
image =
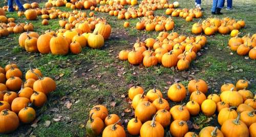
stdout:
{"type": "Polygon", "coordinates": [[[216,103],[210,99],[206,99],[201,104],[201,109],[206,116],[214,115],[216,111],[216,103]]]}

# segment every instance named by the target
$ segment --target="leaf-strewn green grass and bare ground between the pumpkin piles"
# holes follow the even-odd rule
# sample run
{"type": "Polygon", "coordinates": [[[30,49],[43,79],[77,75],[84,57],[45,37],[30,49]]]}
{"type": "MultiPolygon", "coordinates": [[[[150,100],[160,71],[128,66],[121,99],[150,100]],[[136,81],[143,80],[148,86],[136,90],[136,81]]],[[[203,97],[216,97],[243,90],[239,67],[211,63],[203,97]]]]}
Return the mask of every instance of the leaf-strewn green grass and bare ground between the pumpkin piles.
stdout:
{"type": "MultiPolygon", "coordinates": [[[[180,0],[180,8],[194,8],[194,1],[180,0]]],[[[2,4],[2,1],[1,1],[2,4]]],[[[42,6],[44,4],[40,4],[42,6]]],[[[211,1],[202,1],[205,9],[203,19],[210,16],[211,1]]],[[[64,7],[61,10],[70,11],[64,7]]],[[[162,15],[165,10],[158,10],[157,15],[162,15]]],[[[86,11],[89,13],[90,11],[86,11]]],[[[241,36],[256,33],[256,14],[254,1],[233,1],[233,10],[223,10],[224,15],[246,21],[245,29],[241,30],[241,36]]],[[[129,86],[140,85],[145,91],[156,87],[167,97],[167,89],[170,83],[179,80],[187,86],[188,81],[193,78],[201,78],[207,81],[210,93],[220,93],[220,87],[224,82],[235,84],[238,79],[250,81],[249,90],[256,91],[256,61],[245,59],[237,53],[230,54],[227,48],[229,35],[217,34],[207,37],[208,43],[203,48],[196,61],[187,71],[177,71],[164,68],[160,65],[145,68],[133,66],[128,62],[122,62],[117,55],[122,49],[131,49],[137,37],[141,39],[156,38],[156,32],[137,31],[134,26],[138,19],[129,20],[131,27],[123,29],[124,20],[107,13],[95,12],[96,16],[104,16],[112,26],[112,34],[105,42],[102,49],[84,48],[78,55],[53,56],[52,54],[28,53],[18,45],[18,34],[12,34],[7,38],[0,38],[0,66],[4,67],[9,61],[15,62],[25,73],[29,69],[29,63],[39,68],[45,76],[53,77],[57,83],[57,90],[49,95],[49,101],[45,106],[37,109],[37,124],[21,125],[12,134],[3,136],[85,136],[84,126],[88,120],[90,108],[95,104],[108,106],[110,114],[118,114],[122,121],[133,117],[133,110],[126,113],[126,108],[131,109],[127,97],[129,86]],[[232,68],[232,69],[230,69],[232,68]],[[65,103],[70,102],[72,106],[68,109],[65,103]],[[113,102],[116,105],[113,107],[113,102]],[[112,104],[112,105],[111,105],[112,104]],[[60,118],[55,122],[54,119],[60,118]],[[46,121],[51,121],[46,127],[46,121]]],[[[25,22],[23,17],[17,17],[16,12],[7,13],[8,17],[14,17],[16,22],[25,22]]],[[[184,30],[186,36],[191,36],[191,25],[198,21],[185,22],[184,19],[174,17],[175,31],[181,34],[184,30]]],[[[49,20],[49,25],[42,26],[41,18],[30,21],[35,26],[35,32],[42,33],[46,30],[59,29],[58,19],[49,20]]],[[[183,102],[187,102],[187,96],[183,102]]],[[[182,102],[182,103],[183,103],[182,102]]],[[[179,104],[182,104],[179,103],[179,104]]],[[[170,105],[177,103],[170,102],[170,105]]],[[[216,116],[213,116],[216,119],[216,116]]],[[[191,119],[200,127],[206,125],[218,126],[215,119],[209,119],[200,114],[191,119]],[[210,120],[210,121],[209,121],[210,120]]],[[[123,123],[126,126],[127,123],[123,123]]],[[[168,131],[168,129],[166,129],[168,131]]],[[[199,130],[195,130],[199,131],[199,130]]],[[[166,132],[167,133],[167,132],[166,132]]]]}

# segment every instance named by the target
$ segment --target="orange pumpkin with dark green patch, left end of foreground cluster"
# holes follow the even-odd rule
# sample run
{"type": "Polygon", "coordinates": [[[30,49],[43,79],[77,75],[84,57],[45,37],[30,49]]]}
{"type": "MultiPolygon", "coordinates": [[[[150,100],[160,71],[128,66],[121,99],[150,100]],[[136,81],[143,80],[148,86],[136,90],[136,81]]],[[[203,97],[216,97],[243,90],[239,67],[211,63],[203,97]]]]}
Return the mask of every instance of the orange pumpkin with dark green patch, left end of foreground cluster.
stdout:
{"type": "Polygon", "coordinates": [[[97,136],[99,135],[103,128],[104,128],[104,122],[98,118],[92,118],[92,114],[90,114],[89,120],[86,124],[86,132],[89,136],[97,136]]]}

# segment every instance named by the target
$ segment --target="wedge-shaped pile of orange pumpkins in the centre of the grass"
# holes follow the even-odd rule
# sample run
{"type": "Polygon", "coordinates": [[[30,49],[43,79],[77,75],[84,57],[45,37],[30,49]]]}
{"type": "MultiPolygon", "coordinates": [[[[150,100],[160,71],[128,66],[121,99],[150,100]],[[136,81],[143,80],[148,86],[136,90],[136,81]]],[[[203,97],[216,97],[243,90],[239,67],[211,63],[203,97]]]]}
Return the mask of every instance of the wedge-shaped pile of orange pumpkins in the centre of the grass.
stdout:
{"type": "Polygon", "coordinates": [[[119,59],[128,60],[132,65],[143,63],[145,67],[151,67],[159,63],[164,67],[177,66],[178,70],[185,70],[206,42],[204,36],[194,38],[179,36],[176,32],[160,32],[157,39],[148,38],[145,42],[137,40],[132,51],[120,51],[119,59]]]}

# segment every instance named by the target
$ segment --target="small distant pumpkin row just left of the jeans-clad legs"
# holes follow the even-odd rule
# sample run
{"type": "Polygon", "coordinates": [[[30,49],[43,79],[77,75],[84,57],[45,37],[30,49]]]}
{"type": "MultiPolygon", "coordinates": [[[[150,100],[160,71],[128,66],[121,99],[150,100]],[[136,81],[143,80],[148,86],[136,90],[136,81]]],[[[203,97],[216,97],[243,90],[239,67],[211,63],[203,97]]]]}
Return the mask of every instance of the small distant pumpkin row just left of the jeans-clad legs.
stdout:
{"type": "Polygon", "coordinates": [[[201,18],[203,16],[203,12],[196,8],[196,9],[190,9],[187,8],[184,9],[174,9],[174,8],[168,8],[165,10],[166,15],[171,15],[173,17],[182,17],[187,22],[193,21],[193,18],[201,18]]]}

